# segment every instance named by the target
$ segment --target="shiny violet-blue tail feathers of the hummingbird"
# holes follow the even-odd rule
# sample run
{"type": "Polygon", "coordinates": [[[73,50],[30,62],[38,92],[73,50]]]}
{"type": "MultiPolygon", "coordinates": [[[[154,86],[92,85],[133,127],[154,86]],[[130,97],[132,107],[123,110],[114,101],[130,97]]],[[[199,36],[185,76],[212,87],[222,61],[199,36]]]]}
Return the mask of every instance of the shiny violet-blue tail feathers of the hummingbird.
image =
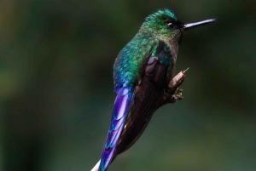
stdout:
{"type": "Polygon", "coordinates": [[[131,108],[134,88],[119,88],[117,97],[113,105],[113,113],[108,137],[105,142],[102,159],[98,171],[106,171],[112,161],[116,146],[118,145],[119,136],[125,126],[125,120],[131,108]]]}

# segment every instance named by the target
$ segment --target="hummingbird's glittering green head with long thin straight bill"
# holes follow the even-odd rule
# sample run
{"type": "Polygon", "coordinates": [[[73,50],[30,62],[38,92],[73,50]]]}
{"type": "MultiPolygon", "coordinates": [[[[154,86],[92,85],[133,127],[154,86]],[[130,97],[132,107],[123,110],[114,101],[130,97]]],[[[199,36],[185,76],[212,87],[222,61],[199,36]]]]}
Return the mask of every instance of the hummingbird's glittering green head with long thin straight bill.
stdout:
{"type": "Polygon", "coordinates": [[[179,43],[183,34],[191,27],[201,26],[214,20],[204,20],[198,23],[184,25],[177,20],[176,15],[169,9],[160,9],[154,14],[150,14],[143,22],[140,31],[148,31],[165,42],[170,40],[179,43]]]}

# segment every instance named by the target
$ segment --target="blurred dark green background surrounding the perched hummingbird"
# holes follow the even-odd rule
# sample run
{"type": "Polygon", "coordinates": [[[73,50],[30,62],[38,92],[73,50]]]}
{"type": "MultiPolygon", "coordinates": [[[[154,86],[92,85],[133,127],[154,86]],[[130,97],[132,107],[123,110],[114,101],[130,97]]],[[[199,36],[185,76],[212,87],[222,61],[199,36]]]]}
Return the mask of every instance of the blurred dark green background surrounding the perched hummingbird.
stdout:
{"type": "Polygon", "coordinates": [[[256,169],[256,2],[0,1],[0,170],[87,171],[110,122],[113,61],[148,14],[172,9],[189,31],[184,99],[155,112],[109,171],[256,169]]]}

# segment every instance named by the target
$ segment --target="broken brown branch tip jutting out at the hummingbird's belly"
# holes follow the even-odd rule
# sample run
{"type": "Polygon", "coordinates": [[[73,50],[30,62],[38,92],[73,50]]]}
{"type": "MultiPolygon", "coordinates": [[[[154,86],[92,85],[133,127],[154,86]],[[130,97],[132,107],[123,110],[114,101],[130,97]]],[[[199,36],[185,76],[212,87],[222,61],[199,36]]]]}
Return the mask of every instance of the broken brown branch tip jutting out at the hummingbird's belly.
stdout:
{"type": "Polygon", "coordinates": [[[162,105],[175,103],[176,101],[183,99],[183,90],[178,87],[183,83],[185,79],[185,72],[188,71],[188,69],[180,71],[175,77],[172,78],[165,90],[165,93],[162,95],[159,101],[158,108],[162,105]]]}

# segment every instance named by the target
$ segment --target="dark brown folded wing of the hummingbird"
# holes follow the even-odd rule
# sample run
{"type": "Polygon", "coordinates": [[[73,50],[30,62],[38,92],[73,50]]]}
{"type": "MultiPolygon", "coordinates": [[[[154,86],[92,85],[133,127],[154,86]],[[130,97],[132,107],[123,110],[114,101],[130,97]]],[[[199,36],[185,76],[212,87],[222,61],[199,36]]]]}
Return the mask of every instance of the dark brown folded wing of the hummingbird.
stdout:
{"type": "Polygon", "coordinates": [[[172,55],[164,51],[166,43],[159,43],[159,46],[160,52],[149,58],[145,74],[137,86],[131,113],[125,122],[114,157],[129,149],[143,134],[157,109],[160,96],[164,93],[168,82],[167,75],[172,66],[172,55]]]}

